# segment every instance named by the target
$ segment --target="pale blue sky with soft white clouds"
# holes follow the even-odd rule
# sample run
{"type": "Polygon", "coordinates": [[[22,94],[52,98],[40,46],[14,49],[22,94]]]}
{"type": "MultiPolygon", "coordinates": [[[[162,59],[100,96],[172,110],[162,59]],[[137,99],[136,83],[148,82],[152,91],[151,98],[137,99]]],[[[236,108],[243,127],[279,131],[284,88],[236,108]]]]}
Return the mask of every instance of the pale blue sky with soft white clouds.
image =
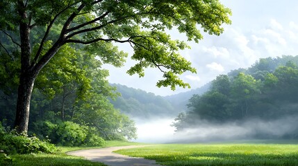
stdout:
{"type": "MultiPolygon", "coordinates": [[[[198,44],[188,42],[191,49],[182,50],[181,55],[192,62],[197,74],[184,73],[180,78],[197,89],[215,79],[217,75],[229,73],[238,68],[247,68],[264,57],[298,55],[298,1],[277,0],[222,0],[233,15],[232,24],[224,25],[220,36],[203,33],[198,44]]],[[[176,30],[169,31],[173,39],[185,40],[176,30]]],[[[132,55],[129,45],[119,46],[132,55]]],[[[110,71],[110,83],[124,84],[156,95],[173,95],[190,89],[177,87],[158,88],[156,82],[163,73],[157,68],[145,70],[144,77],[130,76],[126,71],[135,62],[127,59],[122,68],[105,65],[110,71]]]]}

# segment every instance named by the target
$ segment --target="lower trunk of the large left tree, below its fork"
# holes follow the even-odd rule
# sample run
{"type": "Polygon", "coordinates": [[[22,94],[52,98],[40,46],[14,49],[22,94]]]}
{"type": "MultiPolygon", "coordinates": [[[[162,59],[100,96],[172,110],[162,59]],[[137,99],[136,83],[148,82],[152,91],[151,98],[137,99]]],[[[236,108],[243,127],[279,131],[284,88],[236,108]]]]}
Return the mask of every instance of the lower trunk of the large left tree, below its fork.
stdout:
{"type": "Polygon", "coordinates": [[[35,77],[21,75],[17,94],[17,112],[15,127],[19,133],[27,133],[30,111],[30,100],[33,91],[35,77]]]}

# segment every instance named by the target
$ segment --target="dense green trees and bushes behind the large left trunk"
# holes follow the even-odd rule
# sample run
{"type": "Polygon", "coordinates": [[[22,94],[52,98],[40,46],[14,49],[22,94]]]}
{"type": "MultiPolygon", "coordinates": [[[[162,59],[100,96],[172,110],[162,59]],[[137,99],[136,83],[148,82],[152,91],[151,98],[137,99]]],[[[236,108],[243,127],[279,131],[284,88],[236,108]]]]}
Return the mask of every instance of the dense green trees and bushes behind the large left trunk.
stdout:
{"type": "MultiPolygon", "coordinates": [[[[92,51],[77,48],[63,46],[40,72],[31,98],[28,134],[68,146],[135,138],[134,122],[108,99],[119,94],[108,84],[101,60],[92,51]]],[[[15,122],[20,57],[1,57],[0,121],[10,130],[15,122]]]]}

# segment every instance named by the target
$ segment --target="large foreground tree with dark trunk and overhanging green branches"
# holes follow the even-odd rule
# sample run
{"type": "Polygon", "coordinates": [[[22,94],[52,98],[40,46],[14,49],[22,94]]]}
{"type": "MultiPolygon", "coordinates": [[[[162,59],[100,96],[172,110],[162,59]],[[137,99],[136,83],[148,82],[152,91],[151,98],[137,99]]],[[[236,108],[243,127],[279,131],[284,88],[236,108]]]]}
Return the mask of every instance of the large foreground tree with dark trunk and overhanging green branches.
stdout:
{"type": "MultiPolygon", "coordinates": [[[[15,127],[28,130],[31,94],[36,77],[65,45],[82,44],[82,49],[97,55],[102,62],[121,66],[125,53],[113,43],[133,48],[131,59],[138,61],[129,74],[144,75],[144,68],[156,67],[164,80],[157,86],[189,86],[177,75],[195,72],[190,62],[179,55],[185,42],[170,39],[165,29],[178,28],[188,40],[199,42],[197,28],[220,35],[222,24],[230,24],[231,11],[214,1],[131,1],[131,0],[3,0],[0,3],[0,30],[15,48],[13,54],[0,43],[1,56],[19,57],[19,85],[15,127]],[[41,31],[36,31],[39,28],[41,31]],[[50,37],[53,32],[59,35],[50,37]],[[37,42],[33,43],[33,39],[37,42]],[[32,46],[38,46],[33,51],[32,46]]],[[[67,57],[67,55],[65,55],[67,57]]]]}

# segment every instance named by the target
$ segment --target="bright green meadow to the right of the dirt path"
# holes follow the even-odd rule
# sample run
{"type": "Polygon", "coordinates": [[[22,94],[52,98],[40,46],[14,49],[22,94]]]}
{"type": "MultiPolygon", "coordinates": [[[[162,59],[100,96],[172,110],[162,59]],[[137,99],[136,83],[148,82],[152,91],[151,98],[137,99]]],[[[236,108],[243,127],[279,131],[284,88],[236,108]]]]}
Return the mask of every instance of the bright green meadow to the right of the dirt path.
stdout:
{"type": "Polygon", "coordinates": [[[156,160],[161,165],[298,165],[298,145],[188,144],[122,149],[119,154],[156,160]]]}

